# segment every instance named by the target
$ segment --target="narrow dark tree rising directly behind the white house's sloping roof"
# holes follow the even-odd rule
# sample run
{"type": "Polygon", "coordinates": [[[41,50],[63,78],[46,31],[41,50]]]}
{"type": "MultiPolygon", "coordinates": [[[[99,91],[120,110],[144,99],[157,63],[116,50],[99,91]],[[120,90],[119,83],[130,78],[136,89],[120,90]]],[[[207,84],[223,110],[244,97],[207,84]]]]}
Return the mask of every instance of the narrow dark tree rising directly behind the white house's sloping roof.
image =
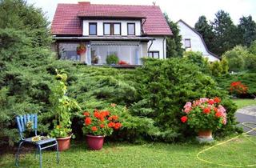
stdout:
{"type": "Polygon", "coordinates": [[[198,22],[195,23],[194,29],[198,31],[199,34],[202,34],[202,38],[206,42],[206,46],[210,51],[213,48],[214,32],[213,27],[208,24],[206,16],[200,16],[198,22]]]}

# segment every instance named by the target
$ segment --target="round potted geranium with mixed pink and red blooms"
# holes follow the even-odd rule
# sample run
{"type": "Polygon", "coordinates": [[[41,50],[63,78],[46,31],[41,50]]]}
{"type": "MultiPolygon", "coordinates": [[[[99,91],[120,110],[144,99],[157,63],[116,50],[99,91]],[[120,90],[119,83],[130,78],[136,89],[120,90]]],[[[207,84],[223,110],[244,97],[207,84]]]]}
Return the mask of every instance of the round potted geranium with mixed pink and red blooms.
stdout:
{"type": "Polygon", "coordinates": [[[186,102],[181,121],[198,133],[198,138],[213,140],[212,131],[226,125],[226,110],[220,98],[200,98],[186,102]]]}

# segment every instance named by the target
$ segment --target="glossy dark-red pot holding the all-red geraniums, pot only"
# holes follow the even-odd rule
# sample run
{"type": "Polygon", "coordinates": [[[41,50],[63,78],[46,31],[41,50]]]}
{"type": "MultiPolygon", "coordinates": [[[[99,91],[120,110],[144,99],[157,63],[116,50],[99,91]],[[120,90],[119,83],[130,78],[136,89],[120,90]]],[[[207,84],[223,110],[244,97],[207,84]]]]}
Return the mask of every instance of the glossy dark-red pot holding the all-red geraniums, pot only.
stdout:
{"type": "Polygon", "coordinates": [[[86,134],[86,142],[90,150],[101,150],[104,143],[104,136],[86,134]]]}

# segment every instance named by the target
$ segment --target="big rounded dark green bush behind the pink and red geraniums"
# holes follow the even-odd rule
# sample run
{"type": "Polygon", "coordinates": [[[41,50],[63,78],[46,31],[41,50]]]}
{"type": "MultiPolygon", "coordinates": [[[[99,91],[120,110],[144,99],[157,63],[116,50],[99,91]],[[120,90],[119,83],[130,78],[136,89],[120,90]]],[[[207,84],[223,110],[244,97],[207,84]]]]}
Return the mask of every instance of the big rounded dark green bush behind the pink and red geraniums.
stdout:
{"type": "MultiPolygon", "coordinates": [[[[230,102],[214,79],[202,74],[186,58],[167,60],[146,59],[142,68],[136,70],[136,88],[138,102],[130,107],[134,115],[154,119],[160,132],[156,138],[164,141],[182,140],[191,131],[182,126],[182,106],[188,101],[203,97],[220,97],[230,102]]],[[[230,108],[226,106],[227,109],[230,108]]],[[[230,116],[224,132],[232,132],[235,124],[235,110],[227,111],[230,116]],[[229,129],[226,129],[229,128],[229,129]]]]}

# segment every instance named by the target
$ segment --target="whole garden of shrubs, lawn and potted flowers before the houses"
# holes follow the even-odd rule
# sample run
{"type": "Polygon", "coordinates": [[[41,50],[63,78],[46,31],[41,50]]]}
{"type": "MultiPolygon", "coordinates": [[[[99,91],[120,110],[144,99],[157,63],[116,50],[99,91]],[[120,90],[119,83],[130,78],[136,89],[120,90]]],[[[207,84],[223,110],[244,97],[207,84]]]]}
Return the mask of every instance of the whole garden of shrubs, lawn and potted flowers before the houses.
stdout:
{"type": "MultiPolygon", "coordinates": [[[[255,166],[256,138],[234,114],[255,105],[256,74],[246,63],[229,72],[235,52],[211,64],[190,51],[120,70],[58,60],[42,10],[17,3],[0,2],[1,167],[14,167],[20,135],[57,138],[59,163],[49,149],[43,167],[255,166]]],[[[19,165],[38,167],[34,152],[23,146],[19,165]]]]}

